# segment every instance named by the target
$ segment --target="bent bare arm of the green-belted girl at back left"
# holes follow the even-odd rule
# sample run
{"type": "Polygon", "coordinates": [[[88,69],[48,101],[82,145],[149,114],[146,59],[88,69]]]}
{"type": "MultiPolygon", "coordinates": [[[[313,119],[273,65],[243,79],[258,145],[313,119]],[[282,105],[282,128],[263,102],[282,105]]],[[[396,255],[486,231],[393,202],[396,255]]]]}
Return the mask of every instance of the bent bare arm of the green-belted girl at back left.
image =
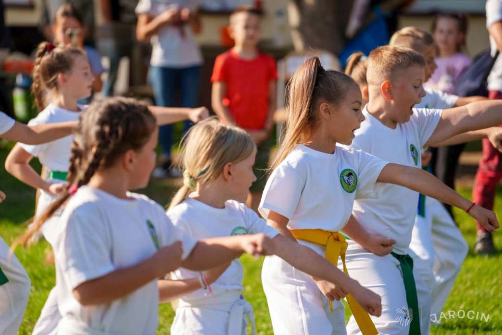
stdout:
{"type": "Polygon", "coordinates": [[[27,153],[19,144],[16,144],[9,153],[9,156],[7,156],[5,169],[14,177],[24,182],[24,184],[50,192],[49,187],[51,184],[42,179],[30,165],[32,158],[32,155],[27,153]]]}

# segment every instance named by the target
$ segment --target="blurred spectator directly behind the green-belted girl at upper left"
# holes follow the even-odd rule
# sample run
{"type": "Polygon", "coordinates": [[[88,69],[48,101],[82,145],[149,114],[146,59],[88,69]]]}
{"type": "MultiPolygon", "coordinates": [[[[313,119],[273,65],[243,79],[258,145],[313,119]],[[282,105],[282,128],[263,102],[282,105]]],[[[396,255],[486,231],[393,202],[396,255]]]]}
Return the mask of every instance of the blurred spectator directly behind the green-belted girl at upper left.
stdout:
{"type": "MultiPolygon", "coordinates": [[[[92,46],[85,46],[83,44],[86,31],[87,28],[83,25],[83,19],[80,13],[72,5],[65,4],[58,9],[52,24],[54,44],[71,44],[86,51],[87,60],[94,75],[92,87],[92,94],[94,94],[101,92],[101,88],[103,87],[101,74],[104,72],[104,68],[101,65],[101,56],[98,50],[92,46]]],[[[80,101],[79,103],[89,104],[91,98],[80,101]]]]}

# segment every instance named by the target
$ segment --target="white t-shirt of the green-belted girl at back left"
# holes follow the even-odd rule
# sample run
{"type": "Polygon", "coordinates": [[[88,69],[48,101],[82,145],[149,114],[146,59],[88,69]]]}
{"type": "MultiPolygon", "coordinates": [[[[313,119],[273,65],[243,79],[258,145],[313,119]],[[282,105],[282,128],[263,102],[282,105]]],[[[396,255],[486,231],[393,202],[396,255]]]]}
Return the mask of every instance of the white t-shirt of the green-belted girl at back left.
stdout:
{"type": "MultiPolygon", "coordinates": [[[[86,105],[78,105],[80,110],[87,108],[86,105]]],[[[30,120],[29,126],[55,124],[67,121],[77,121],[80,112],[74,112],[67,109],[49,104],[43,111],[38,113],[37,117],[30,120]]],[[[70,165],[71,142],[73,135],[69,135],[58,140],[44,144],[19,145],[30,155],[38,157],[38,160],[50,171],[68,171],[70,165]]]]}

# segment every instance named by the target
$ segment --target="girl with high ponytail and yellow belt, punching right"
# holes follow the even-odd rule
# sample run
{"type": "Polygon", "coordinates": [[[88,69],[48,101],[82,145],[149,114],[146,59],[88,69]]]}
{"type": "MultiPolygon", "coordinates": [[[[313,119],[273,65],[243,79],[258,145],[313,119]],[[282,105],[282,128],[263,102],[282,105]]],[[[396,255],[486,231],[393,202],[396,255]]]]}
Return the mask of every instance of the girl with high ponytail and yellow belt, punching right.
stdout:
{"type": "MultiPolygon", "coordinates": [[[[325,71],[317,58],[307,60],[294,74],[289,87],[286,134],[259,208],[269,225],[331,262],[338,262],[339,255],[345,260],[347,243],[338,231],[349,220],[354,200],[385,196],[382,189],[386,186],[379,182],[436,194],[465,207],[470,204],[425,171],[388,164],[364,151],[337,144],[349,145],[354,131],[366,125],[361,124],[363,120],[361,92],[349,76],[325,71]],[[334,252],[332,248],[341,249],[334,252]]],[[[483,218],[488,214],[494,217],[481,208],[477,212],[483,218]]],[[[380,236],[379,231],[372,232],[360,226],[347,231],[370,252],[388,257],[395,241],[380,236]]],[[[373,278],[371,274],[368,277],[373,278]]],[[[345,296],[340,288],[314,280],[274,256],[265,260],[262,281],[275,333],[345,333],[342,303],[337,303],[336,313],[327,309],[327,299],[345,296]]],[[[348,302],[360,331],[376,334],[369,316],[360,313],[350,297],[348,302]]]]}

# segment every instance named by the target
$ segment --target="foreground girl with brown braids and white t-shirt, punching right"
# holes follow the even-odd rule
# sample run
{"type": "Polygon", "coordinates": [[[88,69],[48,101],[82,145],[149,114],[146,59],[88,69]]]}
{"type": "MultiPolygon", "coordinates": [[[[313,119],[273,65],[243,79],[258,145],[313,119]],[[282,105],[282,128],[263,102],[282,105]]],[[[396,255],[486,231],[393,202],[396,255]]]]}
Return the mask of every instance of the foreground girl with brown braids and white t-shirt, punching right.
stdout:
{"type": "Polygon", "coordinates": [[[74,134],[68,185],[17,242],[26,242],[67,203],[54,232],[58,333],[154,334],[157,281],[180,265],[217,266],[242,252],[271,250],[263,234],[197,242],[163,208],[128,190],[147,185],[156,119],[132,99],[93,103],[74,134]]]}

